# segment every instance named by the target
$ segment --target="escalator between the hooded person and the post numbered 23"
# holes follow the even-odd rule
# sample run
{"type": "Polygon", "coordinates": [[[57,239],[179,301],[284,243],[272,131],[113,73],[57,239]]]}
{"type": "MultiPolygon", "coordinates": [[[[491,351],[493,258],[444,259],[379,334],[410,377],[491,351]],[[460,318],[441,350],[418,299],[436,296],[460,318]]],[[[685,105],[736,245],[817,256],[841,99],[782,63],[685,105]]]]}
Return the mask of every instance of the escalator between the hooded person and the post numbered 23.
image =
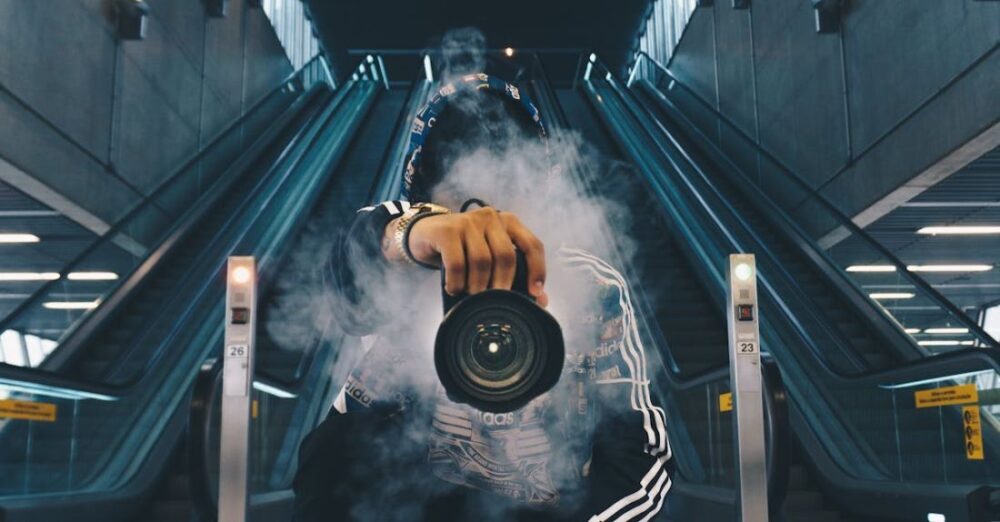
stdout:
{"type": "MultiPolygon", "coordinates": [[[[553,88],[539,62],[532,97],[558,130],[578,132],[587,147],[604,158],[598,166],[578,168],[588,193],[629,209],[627,226],[605,232],[630,252],[613,262],[629,280],[647,355],[655,371],[657,398],[665,405],[671,446],[679,476],[663,518],[711,520],[736,516],[736,456],[731,416],[719,399],[729,392],[729,352],[725,293],[711,287],[682,243],[676,222],[664,212],[653,191],[634,180],[639,165],[582,89],[553,88]]],[[[788,459],[783,385],[773,363],[765,360],[765,424],[768,481],[772,506],[782,502],[788,459]]],[[[776,512],[775,512],[776,513],[776,512]]]]}

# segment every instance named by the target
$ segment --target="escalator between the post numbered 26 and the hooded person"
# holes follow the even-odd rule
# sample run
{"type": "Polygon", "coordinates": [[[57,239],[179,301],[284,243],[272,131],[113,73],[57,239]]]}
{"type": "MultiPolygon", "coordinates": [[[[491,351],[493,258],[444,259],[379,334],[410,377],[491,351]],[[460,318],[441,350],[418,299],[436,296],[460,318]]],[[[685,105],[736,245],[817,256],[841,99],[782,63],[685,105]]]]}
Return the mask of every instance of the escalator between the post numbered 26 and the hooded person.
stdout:
{"type": "MultiPolygon", "coordinates": [[[[339,331],[322,302],[322,274],[337,227],[365,202],[398,187],[410,122],[430,92],[423,80],[386,85],[317,193],[297,237],[260,275],[258,386],[252,392],[259,422],[251,435],[248,490],[254,519],[290,518],[299,443],[322,422],[339,391],[344,376],[334,369],[349,369],[349,361],[363,353],[359,340],[339,331]]],[[[186,442],[192,500],[202,519],[213,518],[218,509],[221,366],[214,360],[199,376],[186,442]]],[[[171,480],[168,475],[163,483],[171,480]]]]}

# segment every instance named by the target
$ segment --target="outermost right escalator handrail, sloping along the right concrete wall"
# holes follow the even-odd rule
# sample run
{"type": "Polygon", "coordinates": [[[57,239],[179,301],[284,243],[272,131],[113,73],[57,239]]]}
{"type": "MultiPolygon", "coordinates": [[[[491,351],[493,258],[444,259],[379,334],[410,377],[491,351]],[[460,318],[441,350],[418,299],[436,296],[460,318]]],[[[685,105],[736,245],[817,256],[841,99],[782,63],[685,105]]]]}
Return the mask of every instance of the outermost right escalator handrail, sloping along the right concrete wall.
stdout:
{"type": "MultiPolygon", "coordinates": [[[[652,58],[644,51],[639,52],[639,57],[648,60],[651,64],[653,64],[654,67],[656,67],[658,70],[667,75],[671,79],[671,81],[673,81],[676,85],[680,86],[686,92],[691,94],[691,96],[698,102],[698,104],[702,108],[708,110],[714,117],[724,122],[728,129],[735,131],[745,141],[753,144],[757,152],[766,157],[770,162],[777,165],[779,169],[782,171],[782,173],[785,174],[787,178],[791,179],[792,182],[795,183],[798,189],[809,194],[816,201],[819,201],[820,204],[827,210],[827,212],[836,218],[836,220],[839,223],[839,226],[847,228],[852,234],[862,238],[865,241],[865,243],[867,243],[868,246],[872,247],[880,255],[882,255],[889,263],[891,263],[896,268],[897,273],[902,274],[903,277],[909,280],[911,283],[913,283],[914,286],[920,288],[920,290],[926,293],[935,302],[935,304],[947,310],[948,313],[954,316],[959,322],[961,322],[963,326],[968,327],[969,332],[973,333],[976,337],[978,337],[981,342],[987,344],[990,348],[1000,349],[1000,342],[993,339],[992,336],[986,333],[982,329],[982,327],[979,326],[978,323],[969,318],[964,312],[962,312],[957,306],[955,306],[955,304],[952,303],[950,299],[944,297],[944,295],[938,292],[937,289],[935,289],[930,283],[924,280],[924,278],[910,272],[907,269],[907,265],[905,263],[903,263],[898,257],[896,257],[895,254],[893,254],[891,251],[885,248],[885,246],[883,246],[880,242],[873,239],[867,232],[864,231],[864,229],[855,224],[853,220],[844,215],[843,212],[841,212],[840,209],[838,209],[836,205],[834,205],[833,202],[831,202],[823,193],[817,191],[816,189],[811,187],[808,183],[806,183],[801,177],[799,177],[798,174],[796,174],[787,165],[785,165],[784,162],[782,162],[780,159],[771,154],[771,152],[768,151],[766,148],[764,148],[763,145],[761,145],[756,140],[751,138],[742,128],[740,128],[732,120],[730,120],[721,112],[719,112],[718,109],[712,107],[711,104],[709,104],[700,94],[698,94],[698,92],[696,92],[695,90],[691,89],[686,84],[684,84],[684,82],[682,82],[679,78],[677,78],[677,76],[673,72],[671,72],[665,66],[660,64],[658,61],[656,61],[656,59],[652,58]]],[[[636,66],[637,65],[638,61],[636,66]]],[[[838,270],[836,270],[835,272],[840,273],[839,267],[837,268],[838,270]]],[[[846,276],[843,275],[842,277],[846,278],[846,276]]],[[[855,286],[853,282],[851,283],[851,286],[852,287],[855,286]]],[[[860,292],[860,290],[858,291],[860,292]]]]}

